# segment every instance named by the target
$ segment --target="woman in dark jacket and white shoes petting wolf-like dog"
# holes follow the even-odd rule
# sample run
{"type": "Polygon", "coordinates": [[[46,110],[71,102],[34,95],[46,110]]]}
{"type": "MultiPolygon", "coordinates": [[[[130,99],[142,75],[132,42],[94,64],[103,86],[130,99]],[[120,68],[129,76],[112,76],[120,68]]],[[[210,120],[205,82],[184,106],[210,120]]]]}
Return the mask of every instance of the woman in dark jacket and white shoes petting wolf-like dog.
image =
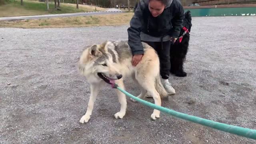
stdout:
{"type": "Polygon", "coordinates": [[[140,0],[128,28],[128,44],[132,49],[132,65],[136,66],[146,42],[158,53],[162,83],[168,94],[175,94],[168,81],[170,74],[170,44],[180,34],[184,9],[178,0],[140,0]]]}

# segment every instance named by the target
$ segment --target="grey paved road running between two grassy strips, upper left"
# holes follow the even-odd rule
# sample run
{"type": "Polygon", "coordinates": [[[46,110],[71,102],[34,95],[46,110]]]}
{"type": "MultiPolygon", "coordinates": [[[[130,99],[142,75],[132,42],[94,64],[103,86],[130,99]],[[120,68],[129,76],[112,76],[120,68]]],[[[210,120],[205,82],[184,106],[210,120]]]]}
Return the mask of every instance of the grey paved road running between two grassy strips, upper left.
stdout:
{"type": "Polygon", "coordinates": [[[2,17],[0,20],[26,20],[26,19],[40,19],[40,18],[56,18],[56,17],[68,17],[68,16],[91,16],[98,14],[116,14],[124,12],[119,9],[110,8],[105,11],[95,11],[95,12],[78,12],[78,13],[68,13],[68,14],[46,14],[40,16],[12,16],[12,17],[2,17]]]}

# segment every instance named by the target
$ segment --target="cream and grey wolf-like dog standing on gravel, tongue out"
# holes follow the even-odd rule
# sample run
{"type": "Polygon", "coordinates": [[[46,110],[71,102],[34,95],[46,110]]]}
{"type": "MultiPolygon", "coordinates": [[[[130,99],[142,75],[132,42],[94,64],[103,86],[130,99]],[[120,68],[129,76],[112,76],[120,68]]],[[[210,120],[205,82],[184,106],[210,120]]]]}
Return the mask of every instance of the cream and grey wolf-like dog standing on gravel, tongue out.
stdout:
{"type": "MultiPolygon", "coordinates": [[[[142,42],[144,56],[137,66],[132,66],[132,52],[127,41],[106,41],[103,44],[94,44],[86,48],[78,61],[78,71],[86,77],[90,83],[90,99],[86,114],[80,119],[80,123],[88,122],[98,91],[102,84],[118,84],[124,89],[123,79],[132,78],[138,84],[141,93],[138,98],[151,95],[155,104],[161,106],[161,99],[168,98],[160,80],[160,62],[156,51],[148,44],[142,42]]],[[[120,111],[114,116],[123,118],[126,114],[126,96],[116,90],[120,111]]],[[[132,100],[134,101],[134,100],[132,100]]],[[[135,101],[134,101],[135,102],[135,101]]],[[[154,110],[151,118],[156,120],[160,117],[160,111],[154,110]]]]}

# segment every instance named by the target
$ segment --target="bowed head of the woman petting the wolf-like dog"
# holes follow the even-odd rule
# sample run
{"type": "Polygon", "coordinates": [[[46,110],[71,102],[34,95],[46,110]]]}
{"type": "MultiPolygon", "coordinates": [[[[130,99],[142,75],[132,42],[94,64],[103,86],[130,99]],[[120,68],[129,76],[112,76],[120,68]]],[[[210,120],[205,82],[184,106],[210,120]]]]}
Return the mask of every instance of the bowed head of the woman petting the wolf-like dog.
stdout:
{"type": "Polygon", "coordinates": [[[172,0],[149,0],[148,8],[152,16],[157,17],[171,5],[172,0]]]}

